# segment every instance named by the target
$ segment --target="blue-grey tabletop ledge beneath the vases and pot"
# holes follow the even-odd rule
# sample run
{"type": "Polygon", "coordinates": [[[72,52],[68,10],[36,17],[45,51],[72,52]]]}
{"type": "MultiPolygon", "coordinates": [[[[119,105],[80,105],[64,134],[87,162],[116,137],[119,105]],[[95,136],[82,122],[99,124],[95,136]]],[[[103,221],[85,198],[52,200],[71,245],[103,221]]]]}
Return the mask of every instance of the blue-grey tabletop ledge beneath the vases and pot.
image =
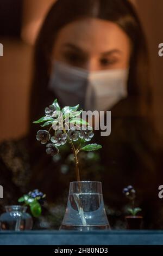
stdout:
{"type": "Polygon", "coordinates": [[[163,245],[163,230],[0,231],[0,245],[163,245]]]}

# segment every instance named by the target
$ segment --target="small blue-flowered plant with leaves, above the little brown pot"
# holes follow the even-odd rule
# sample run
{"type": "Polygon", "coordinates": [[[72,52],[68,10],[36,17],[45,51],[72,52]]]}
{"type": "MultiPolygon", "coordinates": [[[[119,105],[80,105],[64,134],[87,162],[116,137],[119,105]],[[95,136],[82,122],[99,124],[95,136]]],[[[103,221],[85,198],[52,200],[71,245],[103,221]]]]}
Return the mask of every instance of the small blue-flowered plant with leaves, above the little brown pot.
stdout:
{"type": "Polygon", "coordinates": [[[135,207],[136,190],[133,186],[123,188],[123,194],[130,200],[131,207],[127,211],[132,215],[136,216],[138,212],[142,211],[140,207],[135,207]]]}

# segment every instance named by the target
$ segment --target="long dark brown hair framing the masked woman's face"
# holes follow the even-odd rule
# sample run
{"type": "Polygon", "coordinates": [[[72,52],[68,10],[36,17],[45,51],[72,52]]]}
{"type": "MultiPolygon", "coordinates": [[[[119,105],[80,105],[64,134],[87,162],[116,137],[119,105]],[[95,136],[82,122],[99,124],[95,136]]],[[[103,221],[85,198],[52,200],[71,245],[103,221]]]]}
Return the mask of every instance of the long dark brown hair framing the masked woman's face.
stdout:
{"type": "MultiPolygon", "coordinates": [[[[52,49],[59,30],[75,20],[95,17],[115,22],[131,40],[128,99],[136,112],[151,104],[148,81],[148,55],[145,37],[133,6],[127,0],[58,0],[46,16],[37,37],[34,53],[34,76],[30,99],[30,134],[34,139],[32,121],[43,114],[55,95],[48,91],[52,49]]],[[[128,108],[130,109],[130,108],[128,108]]],[[[133,110],[133,109],[132,109],[133,110]]]]}

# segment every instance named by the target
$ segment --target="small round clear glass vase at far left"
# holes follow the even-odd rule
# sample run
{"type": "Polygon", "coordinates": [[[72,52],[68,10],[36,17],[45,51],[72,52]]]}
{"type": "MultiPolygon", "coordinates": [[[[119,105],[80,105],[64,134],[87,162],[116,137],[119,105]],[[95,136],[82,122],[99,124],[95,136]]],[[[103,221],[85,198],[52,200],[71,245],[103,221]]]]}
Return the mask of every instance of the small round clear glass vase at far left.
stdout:
{"type": "Polygon", "coordinates": [[[0,216],[0,229],[15,231],[32,229],[33,219],[26,210],[27,206],[5,206],[6,212],[0,216]]]}

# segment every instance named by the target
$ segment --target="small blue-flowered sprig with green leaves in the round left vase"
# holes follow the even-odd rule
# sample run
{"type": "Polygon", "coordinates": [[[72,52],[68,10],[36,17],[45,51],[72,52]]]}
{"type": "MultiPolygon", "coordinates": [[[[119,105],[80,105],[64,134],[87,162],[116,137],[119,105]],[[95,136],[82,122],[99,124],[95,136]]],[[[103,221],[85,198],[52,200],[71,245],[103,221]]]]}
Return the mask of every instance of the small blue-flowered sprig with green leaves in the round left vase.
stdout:
{"type": "Polygon", "coordinates": [[[41,206],[44,204],[45,198],[46,195],[40,192],[39,189],[34,189],[19,198],[18,202],[29,206],[32,215],[37,218],[41,215],[41,206]]]}

